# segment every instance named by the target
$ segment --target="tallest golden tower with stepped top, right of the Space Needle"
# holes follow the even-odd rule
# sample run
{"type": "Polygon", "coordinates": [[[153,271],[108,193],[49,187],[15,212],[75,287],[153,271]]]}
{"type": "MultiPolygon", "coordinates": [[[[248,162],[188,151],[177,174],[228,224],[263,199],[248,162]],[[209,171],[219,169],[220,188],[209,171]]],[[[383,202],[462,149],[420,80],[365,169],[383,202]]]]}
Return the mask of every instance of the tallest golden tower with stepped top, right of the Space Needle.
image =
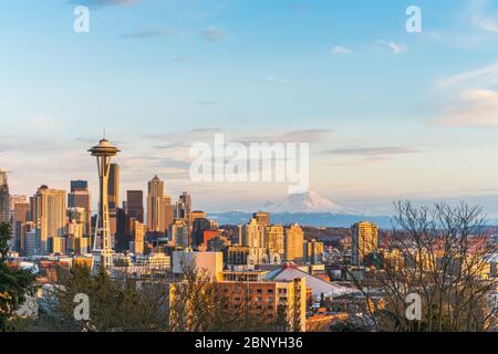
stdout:
{"type": "Polygon", "coordinates": [[[147,231],[166,233],[173,223],[172,198],[164,195],[164,181],[154,176],[147,190],[147,231]]]}

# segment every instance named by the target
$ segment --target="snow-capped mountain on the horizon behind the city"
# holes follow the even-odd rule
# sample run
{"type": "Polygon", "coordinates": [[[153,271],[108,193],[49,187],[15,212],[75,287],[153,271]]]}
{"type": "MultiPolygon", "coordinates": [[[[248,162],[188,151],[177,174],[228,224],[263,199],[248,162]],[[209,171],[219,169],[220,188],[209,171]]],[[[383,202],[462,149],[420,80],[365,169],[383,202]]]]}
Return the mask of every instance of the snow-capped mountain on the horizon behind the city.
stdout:
{"type": "Polygon", "coordinates": [[[290,212],[290,214],[315,214],[315,212],[330,212],[340,215],[359,215],[357,210],[341,207],[334,204],[332,200],[320,196],[315,191],[307,191],[299,195],[289,195],[280,202],[266,202],[261,210],[268,212],[290,212]]]}

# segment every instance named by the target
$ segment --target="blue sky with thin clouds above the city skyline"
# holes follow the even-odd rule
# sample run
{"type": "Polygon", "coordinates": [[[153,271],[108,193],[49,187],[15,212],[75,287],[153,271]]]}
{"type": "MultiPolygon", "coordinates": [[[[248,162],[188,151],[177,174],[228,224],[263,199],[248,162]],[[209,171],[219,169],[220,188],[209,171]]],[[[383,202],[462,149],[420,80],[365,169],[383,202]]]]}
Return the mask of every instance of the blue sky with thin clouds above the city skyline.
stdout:
{"type": "Polygon", "coordinates": [[[498,1],[2,1],[0,167],[15,194],[95,185],[102,129],[123,192],[154,174],[205,209],[287,185],[193,184],[188,144],[300,134],[311,189],[386,212],[469,199],[498,215],[498,1]],[[73,9],[90,8],[90,33],[73,9]],[[418,6],[423,32],[405,30],[418,6]],[[166,146],[167,145],[167,146],[166,146]],[[237,192],[235,198],[235,194],[237,192]],[[496,201],[495,201],[496,200],[496,201]]]}

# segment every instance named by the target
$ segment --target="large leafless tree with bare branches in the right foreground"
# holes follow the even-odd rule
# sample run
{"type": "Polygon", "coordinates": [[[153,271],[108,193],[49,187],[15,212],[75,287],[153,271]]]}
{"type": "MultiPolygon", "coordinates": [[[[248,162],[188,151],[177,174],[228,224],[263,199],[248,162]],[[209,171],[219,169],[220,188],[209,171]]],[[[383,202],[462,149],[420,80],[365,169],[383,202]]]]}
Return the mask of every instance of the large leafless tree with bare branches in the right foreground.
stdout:
{"type": "MultiPolygon", "coordinates": [[[[480,207],[395,205],[388,249],[364,277],[351,273],[367,324],[378,331],[489,331],[497,290],[490,260],[496,246],[480,207]],[[422,300],[422,317],[408,321],[406,296],[422,300]]],[[[375,258],[374,258],[375,259],[375,258]]]]}

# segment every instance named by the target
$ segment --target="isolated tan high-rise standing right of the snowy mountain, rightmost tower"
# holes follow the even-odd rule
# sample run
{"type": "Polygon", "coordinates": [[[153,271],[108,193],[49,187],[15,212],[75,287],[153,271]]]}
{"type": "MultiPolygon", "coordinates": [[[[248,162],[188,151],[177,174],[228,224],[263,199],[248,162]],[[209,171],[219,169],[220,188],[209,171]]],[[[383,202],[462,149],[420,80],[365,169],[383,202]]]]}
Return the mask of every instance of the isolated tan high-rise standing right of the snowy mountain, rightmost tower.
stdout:
{"type": "Polygon", "coordinates": [[[351,247],[354,266],[363,263],[369,256],[378,248],[378,227],[369,221],[360,221],[351,227],[351,247]]]}

